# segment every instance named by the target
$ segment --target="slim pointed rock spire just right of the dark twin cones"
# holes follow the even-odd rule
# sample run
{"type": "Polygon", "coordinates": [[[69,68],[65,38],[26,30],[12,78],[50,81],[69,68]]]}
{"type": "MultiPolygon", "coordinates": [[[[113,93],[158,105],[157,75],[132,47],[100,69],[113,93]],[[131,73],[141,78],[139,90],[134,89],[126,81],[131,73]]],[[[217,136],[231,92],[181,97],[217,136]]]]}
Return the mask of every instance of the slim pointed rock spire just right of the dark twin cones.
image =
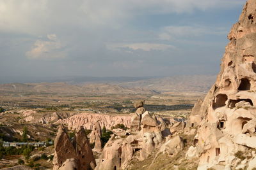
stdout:
{"type": "Polygon", "coordinates": [[[101,128],[99,121],[96,122],[96,124],[93,126],[93,131],[90,134],[90,144],[94,143],[94,148],[95,152],[100,152],[102,149],[102,141],[101,141],[101,128]]]}

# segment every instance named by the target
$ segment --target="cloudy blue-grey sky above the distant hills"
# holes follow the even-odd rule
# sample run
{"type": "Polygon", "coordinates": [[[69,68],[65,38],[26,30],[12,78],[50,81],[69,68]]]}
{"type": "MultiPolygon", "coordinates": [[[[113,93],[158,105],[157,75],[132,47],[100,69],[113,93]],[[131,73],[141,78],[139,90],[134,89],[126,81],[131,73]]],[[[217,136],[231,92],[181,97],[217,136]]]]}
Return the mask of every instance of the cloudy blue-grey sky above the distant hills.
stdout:
{"type": "Polygon", "coordinates": [[[0,0],[0,77],[217,74],[245,0],[0,0]]]}

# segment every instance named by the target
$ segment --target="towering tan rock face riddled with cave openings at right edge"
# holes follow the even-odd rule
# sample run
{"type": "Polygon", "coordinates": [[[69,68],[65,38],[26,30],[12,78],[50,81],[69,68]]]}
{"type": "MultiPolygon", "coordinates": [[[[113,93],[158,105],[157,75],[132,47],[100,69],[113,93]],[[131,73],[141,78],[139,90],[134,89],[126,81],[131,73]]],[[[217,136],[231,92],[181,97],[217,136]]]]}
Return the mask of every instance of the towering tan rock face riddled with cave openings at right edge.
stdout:
{"type": "MultiPolygon", "coordinates": [[[[238,151],[256,148],[256,1],[248,0],[228,34],[216,83],[198,101],[189,124],[198,126],[187,157],[200,157],[198,169],[239,166],[238,151]]],[[[253,156],[252,156],[253,157],[253,156]]]]}

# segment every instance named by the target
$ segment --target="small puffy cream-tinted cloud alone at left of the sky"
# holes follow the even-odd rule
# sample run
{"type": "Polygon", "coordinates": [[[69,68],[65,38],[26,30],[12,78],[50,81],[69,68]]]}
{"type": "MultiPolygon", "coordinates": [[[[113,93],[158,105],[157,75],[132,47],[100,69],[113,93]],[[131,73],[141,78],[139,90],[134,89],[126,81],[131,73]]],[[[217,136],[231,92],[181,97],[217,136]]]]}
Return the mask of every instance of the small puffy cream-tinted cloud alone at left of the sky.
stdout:
{"type": "Polygon", "coordinates": [[[47,34],[47,40],[38,39],[31,50],[26,52],[29,59],[58,59],[67,56],[63,48],[65,45],[57,39],[56,34],[47,34]]]}

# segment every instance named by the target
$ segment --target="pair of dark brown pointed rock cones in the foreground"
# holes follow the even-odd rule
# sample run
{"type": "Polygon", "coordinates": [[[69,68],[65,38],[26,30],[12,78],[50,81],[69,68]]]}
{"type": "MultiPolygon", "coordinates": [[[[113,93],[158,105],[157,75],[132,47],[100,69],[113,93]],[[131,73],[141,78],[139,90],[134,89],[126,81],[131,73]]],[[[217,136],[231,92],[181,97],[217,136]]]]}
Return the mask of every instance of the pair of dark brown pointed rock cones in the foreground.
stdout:
{"type": "Polygon", "coordinates": [[[53,169],[94,169],[96,166],[92,149],[83,127],[76,133],[72,143],[68,138],[67,132],[65,132],[65,127],[60,125],[58,134],[54,139],[54,150],[53,169]]]}

